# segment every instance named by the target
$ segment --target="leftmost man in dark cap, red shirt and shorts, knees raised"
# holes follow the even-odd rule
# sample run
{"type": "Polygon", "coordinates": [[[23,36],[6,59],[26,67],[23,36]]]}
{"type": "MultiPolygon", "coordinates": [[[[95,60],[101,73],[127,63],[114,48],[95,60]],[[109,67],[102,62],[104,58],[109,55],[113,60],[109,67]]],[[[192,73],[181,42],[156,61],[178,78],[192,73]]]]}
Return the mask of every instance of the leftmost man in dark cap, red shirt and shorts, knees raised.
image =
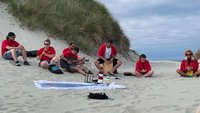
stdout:
{"type": "Polygon", "coordinates": [[[15,41],[15,34],[13,32],[9,32],[6,40],[2,41],[1,44],[1,55],[5,60],[14,60],[16,66],[20,66],[21,64],[18,61],[18,57],[22,56],[24,60],[24,65],[30,65],[27,62],[27,54],[24,46],[15,41]]]}

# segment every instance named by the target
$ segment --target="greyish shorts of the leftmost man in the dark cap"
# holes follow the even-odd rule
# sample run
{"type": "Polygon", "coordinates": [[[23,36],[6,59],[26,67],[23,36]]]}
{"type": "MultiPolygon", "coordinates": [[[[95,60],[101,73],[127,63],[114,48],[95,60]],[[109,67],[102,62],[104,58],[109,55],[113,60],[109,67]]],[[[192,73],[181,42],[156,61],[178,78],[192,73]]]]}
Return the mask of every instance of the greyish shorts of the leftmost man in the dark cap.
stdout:
{"type": "MultiPolygon", "coordinates": [[[[6,51],[5,53],[4,53],[4,55],[3,55],[3,58],[5,59],[5,60],[13,60],[13,57],[12,57],[12,50],[13,49],[10,49],[10,50],[8,50],[8,51],[6,51]]],[[[19,57],[19,56],[22,56],[22,52],[20,51],[20,50],[16,50],[16,55],[17,55],[17,57],[19,57]]]]}

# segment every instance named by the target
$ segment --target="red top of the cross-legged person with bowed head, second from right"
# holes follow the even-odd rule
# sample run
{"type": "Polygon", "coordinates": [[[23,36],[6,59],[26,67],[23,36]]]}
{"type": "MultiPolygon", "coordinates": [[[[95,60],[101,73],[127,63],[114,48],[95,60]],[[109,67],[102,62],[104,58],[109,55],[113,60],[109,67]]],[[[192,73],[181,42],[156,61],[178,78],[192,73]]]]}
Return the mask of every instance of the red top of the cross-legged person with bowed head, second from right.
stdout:
{"type": "Polygon", "coordinates": [[[137,61],[136,71],[141,73],[143,69],[147,72],[151,71],[151,65],[148,60],[146,60],[144,63],[142,63],[141,60],[137,61]]]}

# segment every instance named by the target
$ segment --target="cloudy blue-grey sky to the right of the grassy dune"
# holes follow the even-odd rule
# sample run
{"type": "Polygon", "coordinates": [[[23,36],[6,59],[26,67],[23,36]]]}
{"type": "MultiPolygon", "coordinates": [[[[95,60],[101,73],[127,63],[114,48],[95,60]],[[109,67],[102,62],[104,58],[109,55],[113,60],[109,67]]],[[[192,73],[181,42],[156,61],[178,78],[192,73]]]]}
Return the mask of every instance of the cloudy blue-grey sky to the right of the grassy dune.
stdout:
{"type": "Polygon", "coordinates": [[[150,59],[181,59],[200,47],[200,0],[100,0],[120,23],[131,49],[150,59]]]}

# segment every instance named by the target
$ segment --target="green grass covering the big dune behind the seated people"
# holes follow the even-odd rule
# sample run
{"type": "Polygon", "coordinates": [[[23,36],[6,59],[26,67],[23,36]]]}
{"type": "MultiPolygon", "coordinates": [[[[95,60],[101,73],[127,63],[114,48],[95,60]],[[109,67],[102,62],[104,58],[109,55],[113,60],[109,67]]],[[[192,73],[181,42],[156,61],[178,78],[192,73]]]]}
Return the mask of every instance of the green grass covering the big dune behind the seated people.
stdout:
{"type": "Polygon", "coordinates": [[[9,11],[31,30],[75,42],[94,55],[100,44],[113,39],[119,52],[127,53],[128,38],[106,7],[97,0],[2,0],[9,11]]]}

